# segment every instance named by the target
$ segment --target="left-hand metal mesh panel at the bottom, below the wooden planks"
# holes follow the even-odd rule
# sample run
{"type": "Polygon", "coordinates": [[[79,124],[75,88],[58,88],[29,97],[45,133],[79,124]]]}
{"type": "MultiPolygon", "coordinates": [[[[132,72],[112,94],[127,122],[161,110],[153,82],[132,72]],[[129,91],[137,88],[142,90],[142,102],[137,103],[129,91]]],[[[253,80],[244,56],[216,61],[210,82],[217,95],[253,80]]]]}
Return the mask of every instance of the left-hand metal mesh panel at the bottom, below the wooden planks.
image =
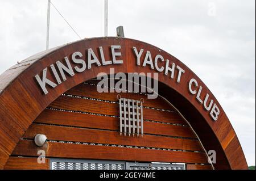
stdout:
{"type": "Polygon", "coordinates": [[[52,170],[124,170],[125,163],[51,159],[51,169],[52,170]]]}

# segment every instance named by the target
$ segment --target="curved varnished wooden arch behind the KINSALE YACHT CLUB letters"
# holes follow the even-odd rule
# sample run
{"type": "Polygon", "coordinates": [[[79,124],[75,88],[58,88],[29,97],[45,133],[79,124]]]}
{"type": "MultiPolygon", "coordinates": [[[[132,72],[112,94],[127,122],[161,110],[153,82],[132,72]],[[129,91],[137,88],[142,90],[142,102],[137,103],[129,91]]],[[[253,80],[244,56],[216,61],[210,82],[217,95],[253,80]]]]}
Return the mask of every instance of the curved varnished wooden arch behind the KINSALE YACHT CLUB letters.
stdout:
{"type": "MultiPolygon", "coordinates": [[[[3,169],[19,139],[36,117],[65,91],[97,77],[98,73],[109,74],[110,68],[115,68],[115,73],[157,72],[148,65],[142,66],[147,51],[150,51],[152,57],[157,54],[164,57],[163,62],[159,61],[159,67],[164,66],[168,59],[170,66],[174,63],[184,69],[185,73],[182,75],[180,83],[176,81],[178,71],[174,74],[174,78],[170,77],[170,73],[168,75],[165,75],[164,71],[159,73],[159,94],[170,101],[184,115],[206,150],[216,150],[215,169],[247,169],[240,142],[228,117],[216,98],[196,74],[162,49],[141,41],[116,37],[85,39],[53,48],[19,62],[0,75],[0,168],[3,169]],[[118,59],[123,60],[123,64],[105,66],[93,64],[91,69],[76,73],[73,77],[67,75],[67,81],[57,85],[54,89],[47,86],[49,91],[47,95],[42,92],[36,82],[36,74],[42,77],[43,69],[49,69],[50,65],[56,64],[56,61],[64,62],[66,56],[71,59],[74,52],[82,52],[85,55],[85,52],[87,53],[88,49],[92,48],[96,56],[100,57],[99,47],[102,47],[105,59],[112,60],[112,45],[121,46],[119,52],[122,55],[118,59]],[[141,65],[137,65],[137,57],[133,47],[136,47],[138,51],[144,49],[141,65]],[[214,121],[209,112],[204,110],[203,104],[196,100],[196,95],[189,92],[188,84],[192,78],[196,79],[199,86],[202,86],[201,95],[209,94],[209,98],[213,99],[213,102],[220,109],[217,121],[214,121]]],[[[77,65],[71,62],[71,66],[74,68],[77,65]]],[[[48,79],[55,81],[52,74],[48,73],[47,76],[48,79]]],[[[199,86],[197,91],[199,91],[199,86]]]]}

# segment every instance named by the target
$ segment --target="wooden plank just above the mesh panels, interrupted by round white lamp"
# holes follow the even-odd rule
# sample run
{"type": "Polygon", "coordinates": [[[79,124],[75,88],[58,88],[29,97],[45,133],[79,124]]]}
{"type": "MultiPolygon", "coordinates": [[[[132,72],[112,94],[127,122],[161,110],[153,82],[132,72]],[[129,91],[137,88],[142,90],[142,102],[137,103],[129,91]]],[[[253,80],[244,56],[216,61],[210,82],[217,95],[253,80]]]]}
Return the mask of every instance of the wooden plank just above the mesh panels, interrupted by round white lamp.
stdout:
{"type": "MultiPolygon", "coordinates": [[[[13,155],[36,156],[37,150],[38,147],[35,146],[33,141],[20,140],[13,151],[13,155]]],[[[133,162],[208,163],[207,157],[203,153],[61,144],[54,142],[48,142],[46,156],[57,158],[126,160],[133,162]]]]}

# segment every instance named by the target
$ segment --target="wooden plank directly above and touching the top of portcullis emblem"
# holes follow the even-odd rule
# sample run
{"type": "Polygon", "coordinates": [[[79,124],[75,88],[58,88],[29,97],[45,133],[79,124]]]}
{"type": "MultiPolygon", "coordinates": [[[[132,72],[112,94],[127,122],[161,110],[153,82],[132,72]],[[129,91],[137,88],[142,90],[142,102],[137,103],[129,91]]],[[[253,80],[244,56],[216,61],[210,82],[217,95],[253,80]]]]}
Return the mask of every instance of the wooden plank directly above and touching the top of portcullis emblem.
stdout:
{"type": "Polygon", "coordinates": [[[85,96],[88,98],[96,98],[96,99],[102,99],[102,100],[110,100],[117,102],[117,95],[121,95],[122,98],[126,99],[135,99],[135,100],[141,100],[141,98],[144,99],[143,106],[147,107],[154,107],[159,108],[163,110],[174,110],[166,101],[158,97],[157,99],[148,99],[147,95],[144,94],[138,94],[138,93],[130,93],[130,92],[102,92],[98,93],[97,91],[97,81],[94,82],[94,85],[88,85],[81,83],[80,85],[74,87],[71,90],[68,90],[65,92],[65,94],[71,94],[71,95],[78,95],[78,96],[85,96]]]}

